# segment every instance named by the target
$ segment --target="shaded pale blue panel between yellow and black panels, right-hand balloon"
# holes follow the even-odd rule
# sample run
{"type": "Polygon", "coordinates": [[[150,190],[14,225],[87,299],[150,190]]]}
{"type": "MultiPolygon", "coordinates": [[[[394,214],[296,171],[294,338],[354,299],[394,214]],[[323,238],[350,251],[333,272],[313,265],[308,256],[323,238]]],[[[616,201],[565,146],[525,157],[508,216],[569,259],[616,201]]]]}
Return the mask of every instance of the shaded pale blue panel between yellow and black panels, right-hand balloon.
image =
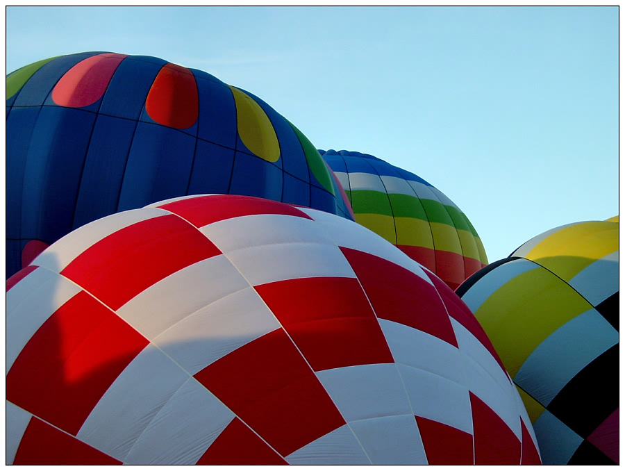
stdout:
{"type": "Polygon", "coordinates": [[[619,333],[594,309],[551,333],[527,357],[514,380],[543,406],[597,356],[619,342],[619,333]]]}

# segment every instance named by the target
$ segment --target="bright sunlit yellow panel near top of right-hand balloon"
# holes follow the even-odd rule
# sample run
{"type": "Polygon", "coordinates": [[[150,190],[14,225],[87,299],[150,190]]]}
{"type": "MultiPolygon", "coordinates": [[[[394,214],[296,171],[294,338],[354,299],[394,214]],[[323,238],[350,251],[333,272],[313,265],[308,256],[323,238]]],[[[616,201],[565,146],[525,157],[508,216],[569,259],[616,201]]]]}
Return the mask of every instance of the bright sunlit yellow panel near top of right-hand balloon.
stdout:
{"type": "Polygon", "coordinates": [[[581,222],[551,234],[525,258],[569,281],[594,261],[619,249],[619,228],[613,222],[581,222]]]}

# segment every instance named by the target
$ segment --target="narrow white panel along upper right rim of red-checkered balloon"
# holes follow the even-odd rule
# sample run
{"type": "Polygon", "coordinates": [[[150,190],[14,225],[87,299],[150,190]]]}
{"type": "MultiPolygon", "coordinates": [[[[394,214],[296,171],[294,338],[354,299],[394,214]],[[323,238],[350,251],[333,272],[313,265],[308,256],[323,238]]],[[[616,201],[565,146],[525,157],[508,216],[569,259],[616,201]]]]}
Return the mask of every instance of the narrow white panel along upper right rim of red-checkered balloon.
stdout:
{"type": "Polygon", "coordinates": [[[319,230],[324,231],[326,235],[333,240],[335,245],[363,251],[365,254],[384,258],[387,261],[395,263],[421,276],[422,279],[429,284],[433,284],[419,263],[412,260],[412,258],[404,254],[403,251],[392,245],[392,243],[378,236],[373,231],[370,231],[365,226],[347,220],[344,217],[325,213],[324,211],[310,208],[299,209],[310,217],[313,217],[319,226],[319,230]]]}

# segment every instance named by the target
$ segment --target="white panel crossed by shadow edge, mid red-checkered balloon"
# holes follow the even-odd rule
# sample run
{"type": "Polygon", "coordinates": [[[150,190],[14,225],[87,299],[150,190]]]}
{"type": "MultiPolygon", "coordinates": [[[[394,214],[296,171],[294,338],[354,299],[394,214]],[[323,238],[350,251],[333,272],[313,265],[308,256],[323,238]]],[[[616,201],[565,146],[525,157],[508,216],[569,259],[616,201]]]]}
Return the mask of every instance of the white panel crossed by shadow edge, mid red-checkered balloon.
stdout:
{"type": "Polygon", "coordinates": [[[280,328],[253,288],[245,288],[201,308],[167,329],[153,342],[189,374],[265,333],[280,328]]]}

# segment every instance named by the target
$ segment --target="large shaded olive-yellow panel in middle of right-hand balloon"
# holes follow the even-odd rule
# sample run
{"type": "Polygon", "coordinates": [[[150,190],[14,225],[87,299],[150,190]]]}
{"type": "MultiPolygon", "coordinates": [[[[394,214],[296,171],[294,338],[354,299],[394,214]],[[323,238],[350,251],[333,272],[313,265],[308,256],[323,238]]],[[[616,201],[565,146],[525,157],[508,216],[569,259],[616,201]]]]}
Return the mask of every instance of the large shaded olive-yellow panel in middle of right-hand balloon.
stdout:
{"type": "Polygon", "coordinates": [[[540,342],[590,308],[567,283],[537,267],[492,293],[475,317],[514,378],[540,342]]]}

